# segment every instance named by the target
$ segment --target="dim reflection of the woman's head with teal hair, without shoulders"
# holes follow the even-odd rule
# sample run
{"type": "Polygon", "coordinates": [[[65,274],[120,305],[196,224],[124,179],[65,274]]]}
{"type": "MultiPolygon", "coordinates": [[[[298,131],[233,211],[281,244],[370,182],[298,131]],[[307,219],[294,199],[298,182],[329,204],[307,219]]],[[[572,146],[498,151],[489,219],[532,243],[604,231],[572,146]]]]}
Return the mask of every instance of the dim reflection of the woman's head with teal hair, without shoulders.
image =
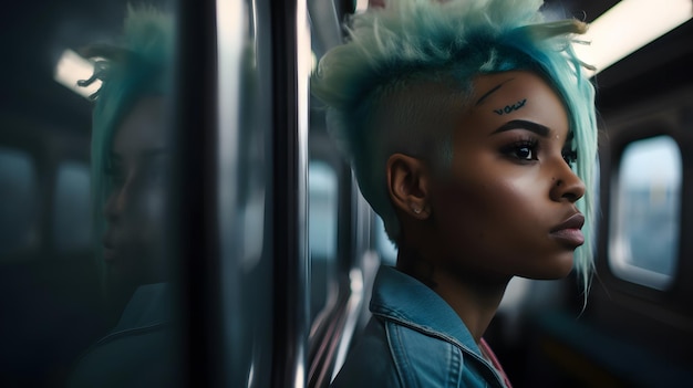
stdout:
{"type": "Polygon", "coordinates": [[[97,57],[94,78],[103,82],[92,133],[96,226],[107,275],[130,285],[163,280],[172,38],[168,15],[128,8],[118,45],[84,51],[97,57]]]}

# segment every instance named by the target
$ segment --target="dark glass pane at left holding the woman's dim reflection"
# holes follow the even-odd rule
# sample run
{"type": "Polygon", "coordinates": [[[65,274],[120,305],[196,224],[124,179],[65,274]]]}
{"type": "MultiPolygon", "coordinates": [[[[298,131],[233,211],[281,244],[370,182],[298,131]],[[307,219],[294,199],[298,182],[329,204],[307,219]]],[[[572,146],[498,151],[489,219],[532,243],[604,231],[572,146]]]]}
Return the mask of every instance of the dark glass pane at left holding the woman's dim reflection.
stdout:
{"type": "Polygon", "coordinates": [[[0,386],[180,380],[176,6],[31,1],[0,15],[0,386]]]}

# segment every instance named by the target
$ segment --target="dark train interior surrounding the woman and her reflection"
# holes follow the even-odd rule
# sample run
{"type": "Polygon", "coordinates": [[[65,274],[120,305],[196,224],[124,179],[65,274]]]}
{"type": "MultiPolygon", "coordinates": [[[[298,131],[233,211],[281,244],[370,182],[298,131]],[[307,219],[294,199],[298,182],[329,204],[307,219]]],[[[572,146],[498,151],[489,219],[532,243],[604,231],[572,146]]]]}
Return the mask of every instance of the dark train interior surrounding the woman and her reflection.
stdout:
{"type": "MultiPolygon", "coordinates": [[[[592,22],[633,2],[544,7],[592,22]]],[[[486,339],[516,387],[693,381],[693,4],[652,1],[676,2],[678,25],[592,77],[596,274],[586,304],[573,276],[513,280],[486,339]]],[[[327,387],[368,322],[379,265],[396,261],[309,97],[314,62],[368,1],[149,3],[177,21],[180,385],[327,387]]],[[[56,74],[81,48],[118,36],[126,7],[25,1],[0,12],[3,387],[64,386],[123,307],[104,304],[95,260],[93,103],[56,74]]]]}

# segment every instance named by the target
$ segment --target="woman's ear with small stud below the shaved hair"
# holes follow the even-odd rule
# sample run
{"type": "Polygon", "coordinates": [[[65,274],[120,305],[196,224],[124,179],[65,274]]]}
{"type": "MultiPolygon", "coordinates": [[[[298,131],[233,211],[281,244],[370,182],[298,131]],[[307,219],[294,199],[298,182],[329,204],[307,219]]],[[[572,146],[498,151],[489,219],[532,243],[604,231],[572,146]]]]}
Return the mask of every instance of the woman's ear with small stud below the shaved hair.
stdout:
{"type": "Polygon", "coordinates": [[[428,174],[423,161],[393,154],[387,159],[387,190],[395,208],[420,220],[431,216],[428,174]]]}

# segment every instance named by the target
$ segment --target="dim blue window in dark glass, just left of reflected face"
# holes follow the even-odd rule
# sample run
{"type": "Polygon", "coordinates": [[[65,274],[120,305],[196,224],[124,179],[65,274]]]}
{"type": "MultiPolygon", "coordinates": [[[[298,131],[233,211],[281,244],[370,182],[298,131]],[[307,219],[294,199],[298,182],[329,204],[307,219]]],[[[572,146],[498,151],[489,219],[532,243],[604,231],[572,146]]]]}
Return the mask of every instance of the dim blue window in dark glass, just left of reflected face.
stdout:
{"type": "Polygon", "coordinates": [[[92,239],[89,166],[63,162],[55,178],[53,239],[59,251],[89,249],[92,239]]]}

